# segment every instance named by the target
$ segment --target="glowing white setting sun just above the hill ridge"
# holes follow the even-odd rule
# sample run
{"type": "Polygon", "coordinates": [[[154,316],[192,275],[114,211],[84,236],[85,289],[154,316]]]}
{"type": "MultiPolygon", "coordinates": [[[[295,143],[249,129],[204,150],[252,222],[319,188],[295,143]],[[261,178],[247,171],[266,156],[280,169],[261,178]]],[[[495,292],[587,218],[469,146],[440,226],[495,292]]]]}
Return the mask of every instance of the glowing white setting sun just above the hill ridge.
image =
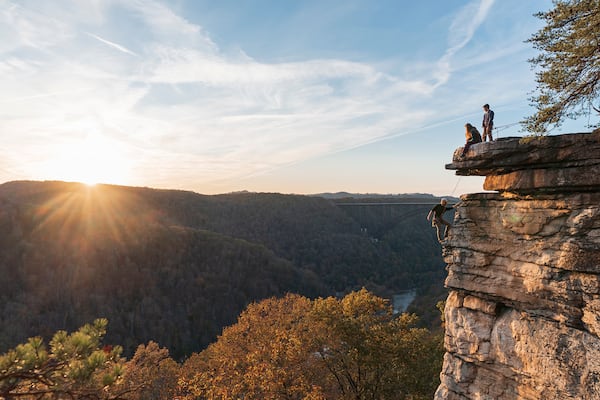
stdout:
{"type": "Polygon", "coordinates": [[[47,160],[44,175],[49,179],[81,182],[127,184],[131,163],[121,146],[101,135],[88,135],[60,143],[47,160]]]}

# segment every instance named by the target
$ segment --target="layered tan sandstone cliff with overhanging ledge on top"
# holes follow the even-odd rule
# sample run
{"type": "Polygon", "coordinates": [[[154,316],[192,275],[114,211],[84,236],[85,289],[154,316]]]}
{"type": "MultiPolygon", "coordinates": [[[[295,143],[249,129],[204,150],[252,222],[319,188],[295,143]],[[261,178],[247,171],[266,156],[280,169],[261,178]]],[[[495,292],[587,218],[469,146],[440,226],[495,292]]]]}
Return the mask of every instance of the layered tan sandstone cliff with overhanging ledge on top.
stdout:
{"type": "Polygon", "coordinates": [[[436,399],[600,399],[600,134],[508,138],[448,169],[446,355],[436,399]]]}

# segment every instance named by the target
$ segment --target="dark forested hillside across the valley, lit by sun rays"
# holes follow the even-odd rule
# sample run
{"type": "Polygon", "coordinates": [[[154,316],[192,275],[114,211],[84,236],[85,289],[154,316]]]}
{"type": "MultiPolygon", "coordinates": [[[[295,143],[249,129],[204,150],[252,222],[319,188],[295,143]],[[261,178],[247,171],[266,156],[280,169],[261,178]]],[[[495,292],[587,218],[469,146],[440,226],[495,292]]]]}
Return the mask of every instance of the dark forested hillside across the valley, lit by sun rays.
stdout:
{"type": "Polygon", "coordinates": [[[214,341],[250,302],[287,292],[417,288],[415,303],[428,299],[434,312],[444,265],[424,218],[430,206],[361,211],[336,202],[0,185],[0,352],[105,317],[107,341],[126,353],[155,340],[182,357],[214,341]]]}

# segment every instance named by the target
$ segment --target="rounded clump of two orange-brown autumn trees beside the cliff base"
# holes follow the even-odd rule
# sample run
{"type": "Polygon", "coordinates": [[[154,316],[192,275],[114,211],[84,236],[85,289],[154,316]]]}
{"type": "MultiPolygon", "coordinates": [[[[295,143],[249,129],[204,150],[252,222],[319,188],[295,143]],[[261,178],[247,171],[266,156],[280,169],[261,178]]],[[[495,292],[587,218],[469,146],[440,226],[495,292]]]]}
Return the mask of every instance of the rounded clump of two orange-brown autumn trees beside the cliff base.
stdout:
{"type": "Polygon", "coordinates": [[[439,337],[363,289],[251,304],[182,367],[189,398],[426,399],[439,384],[439,337]]]}

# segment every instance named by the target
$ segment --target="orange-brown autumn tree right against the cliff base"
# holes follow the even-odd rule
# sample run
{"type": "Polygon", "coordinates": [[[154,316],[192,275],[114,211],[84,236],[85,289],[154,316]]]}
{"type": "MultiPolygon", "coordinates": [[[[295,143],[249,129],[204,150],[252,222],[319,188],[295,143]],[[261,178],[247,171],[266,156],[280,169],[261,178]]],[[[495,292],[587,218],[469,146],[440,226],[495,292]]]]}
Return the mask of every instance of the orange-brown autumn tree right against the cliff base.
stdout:
{"type": "Polygon", "coordinates": [[[318,299],[313,337],[336,399],[430,399],[439,385],[439,337],[392,314],[388,301],[365,289],[341,300],[318,299]]]}

